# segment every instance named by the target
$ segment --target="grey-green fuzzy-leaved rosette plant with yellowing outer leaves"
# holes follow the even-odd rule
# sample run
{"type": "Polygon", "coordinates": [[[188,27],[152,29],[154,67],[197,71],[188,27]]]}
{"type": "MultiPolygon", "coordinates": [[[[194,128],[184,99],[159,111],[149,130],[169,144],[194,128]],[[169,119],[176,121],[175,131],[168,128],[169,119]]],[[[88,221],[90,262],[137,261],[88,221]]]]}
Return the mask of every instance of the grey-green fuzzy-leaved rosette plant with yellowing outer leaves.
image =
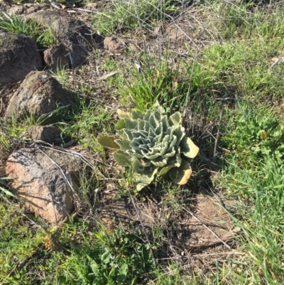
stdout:
{"type": "Polygon", "coordinates": [[[187,183],[192,169],[185,158],[195,158],[199,148],[185,136],[182,114],[168,116],[158,102],[146,113],[137,109],[117,113],[116,129],[123,131],[123,137],[100,136],[98,141],[116,149],[114,159],[120,166],[133,168],[137,190],[166,173],[179,185],[187,183]]]}

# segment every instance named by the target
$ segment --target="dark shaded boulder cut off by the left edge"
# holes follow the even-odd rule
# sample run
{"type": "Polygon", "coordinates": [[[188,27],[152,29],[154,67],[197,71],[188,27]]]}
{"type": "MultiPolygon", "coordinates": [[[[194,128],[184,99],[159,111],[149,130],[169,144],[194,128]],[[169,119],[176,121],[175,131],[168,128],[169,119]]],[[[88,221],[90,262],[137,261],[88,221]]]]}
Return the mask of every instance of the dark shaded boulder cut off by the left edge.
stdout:
{"type": "Polygon", "coordinates": [[[0,83],[17,82],[40,68],[42,59],[33,38],[0,32],[0,83]]]}

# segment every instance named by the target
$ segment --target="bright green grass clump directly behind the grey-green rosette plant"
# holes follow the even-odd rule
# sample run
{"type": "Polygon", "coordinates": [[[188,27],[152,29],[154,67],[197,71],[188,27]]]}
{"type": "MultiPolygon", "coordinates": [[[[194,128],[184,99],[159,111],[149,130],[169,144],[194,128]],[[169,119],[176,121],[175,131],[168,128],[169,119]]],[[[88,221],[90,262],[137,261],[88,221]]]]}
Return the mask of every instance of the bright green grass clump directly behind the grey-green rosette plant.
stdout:
{"type": "Polygon", "coordinates": [[[214,85],[214,73],[197,63],[170,65],[162,60],[142,58],[141,70],[133,68],[128,81],[116,82],[121,100],[145,111],[157,100],[172,110],[182,110],[197,90],[205,93],[214,85]]]}

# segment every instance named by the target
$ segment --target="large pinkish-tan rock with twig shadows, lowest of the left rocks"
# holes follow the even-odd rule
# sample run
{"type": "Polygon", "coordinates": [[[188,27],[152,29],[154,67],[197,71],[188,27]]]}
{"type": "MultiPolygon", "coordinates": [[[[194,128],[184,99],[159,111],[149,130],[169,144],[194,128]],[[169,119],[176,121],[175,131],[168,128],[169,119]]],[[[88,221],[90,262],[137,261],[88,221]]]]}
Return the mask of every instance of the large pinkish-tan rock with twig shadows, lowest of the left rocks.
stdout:
{"type": "Polygon", "coordinates": [[[46,149],[19,149],[9,156],[6,176],[11,190],[37,215],[53,224],[63,222],[74,210],[76,188],[84,163],[74,155],[46,149]],[[59,167],[55,165],[58,164],[59,167]]]}

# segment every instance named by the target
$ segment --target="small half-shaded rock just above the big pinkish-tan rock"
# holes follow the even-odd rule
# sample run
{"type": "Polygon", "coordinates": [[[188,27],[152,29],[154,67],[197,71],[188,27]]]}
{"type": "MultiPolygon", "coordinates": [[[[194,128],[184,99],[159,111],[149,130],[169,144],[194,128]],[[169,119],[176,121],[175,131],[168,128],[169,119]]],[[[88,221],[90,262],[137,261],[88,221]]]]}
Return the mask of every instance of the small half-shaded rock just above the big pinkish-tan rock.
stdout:
{"type": "Polygon", "coordinates": [[[55,126],[33,126],[28,130],[28,136],[33,141],[45,141],[48,144],[59,144],[61,131],[55,126]]]}

